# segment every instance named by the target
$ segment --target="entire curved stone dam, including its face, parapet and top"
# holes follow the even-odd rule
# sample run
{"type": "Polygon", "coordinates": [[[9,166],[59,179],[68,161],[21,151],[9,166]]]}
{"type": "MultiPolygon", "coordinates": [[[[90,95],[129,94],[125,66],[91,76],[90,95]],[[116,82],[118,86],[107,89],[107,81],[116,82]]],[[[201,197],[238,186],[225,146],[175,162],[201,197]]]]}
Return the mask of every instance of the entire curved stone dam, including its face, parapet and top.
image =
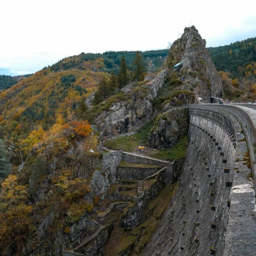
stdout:
{"type": "Polygon", "coordinates": [[[189,109],[179,189],[141,255],[256,255],[254,184],[244,139],[254,172],[256,111],[215,104],[189,109]]]}

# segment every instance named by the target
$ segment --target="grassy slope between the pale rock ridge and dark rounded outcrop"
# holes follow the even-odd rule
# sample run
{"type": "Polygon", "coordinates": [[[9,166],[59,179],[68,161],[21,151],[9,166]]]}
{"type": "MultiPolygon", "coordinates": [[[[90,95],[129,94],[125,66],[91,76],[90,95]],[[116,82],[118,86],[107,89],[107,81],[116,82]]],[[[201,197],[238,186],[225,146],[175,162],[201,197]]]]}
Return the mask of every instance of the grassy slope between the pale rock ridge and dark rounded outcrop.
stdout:
{"type": "Polygon", "coordinates": [[[114,150],[124,150],[126,152],[134,152],[138,146],[147,146],[148,134],[152,127],[152,123],[148,122],[138,130],[136,134],[131,136],[119,137],[105,142],[106,147],[114,150]]]}

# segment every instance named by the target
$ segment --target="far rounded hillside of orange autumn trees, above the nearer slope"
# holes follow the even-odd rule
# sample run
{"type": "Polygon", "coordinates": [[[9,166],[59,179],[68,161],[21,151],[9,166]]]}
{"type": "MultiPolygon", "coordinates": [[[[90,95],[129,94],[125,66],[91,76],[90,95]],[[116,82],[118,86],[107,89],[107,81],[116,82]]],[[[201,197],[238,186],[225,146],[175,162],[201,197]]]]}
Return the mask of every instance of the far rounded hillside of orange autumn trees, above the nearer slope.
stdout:
{"type": "Polygon", "coordinates": [[[56,114],[73,120],[102,74],[44,69],[5,90],[0,94],[0,138],[16,144],[34,129],[48,130],[56,122],[56,114]]]}

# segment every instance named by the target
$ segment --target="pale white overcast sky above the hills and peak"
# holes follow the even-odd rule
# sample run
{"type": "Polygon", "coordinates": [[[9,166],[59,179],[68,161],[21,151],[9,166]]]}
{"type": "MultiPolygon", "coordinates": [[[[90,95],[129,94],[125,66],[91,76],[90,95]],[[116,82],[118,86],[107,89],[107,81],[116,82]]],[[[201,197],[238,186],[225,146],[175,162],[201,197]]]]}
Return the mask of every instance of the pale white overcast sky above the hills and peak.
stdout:
{"type": "Polygon", "coordinates": [[[167,48],[196,26],[206,46],[256,36],[256,0],[0,0],[0,74],[81,52],[167,48]]]}

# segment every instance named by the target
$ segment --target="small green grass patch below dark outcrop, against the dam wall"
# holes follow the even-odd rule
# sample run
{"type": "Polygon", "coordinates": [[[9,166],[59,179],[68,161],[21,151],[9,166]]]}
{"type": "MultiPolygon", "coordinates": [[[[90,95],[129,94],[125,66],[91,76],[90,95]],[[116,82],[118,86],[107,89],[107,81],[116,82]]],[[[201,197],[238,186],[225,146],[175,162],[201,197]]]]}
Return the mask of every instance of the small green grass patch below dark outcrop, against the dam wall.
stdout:
{"type": "Polygon", "coordinates": [[[180,137],[178,142],[171,148],[165,148],[151,154],[152,157],[162,160],[175,160],[184,158],[187,153],[188,136],[180,137]]]}

